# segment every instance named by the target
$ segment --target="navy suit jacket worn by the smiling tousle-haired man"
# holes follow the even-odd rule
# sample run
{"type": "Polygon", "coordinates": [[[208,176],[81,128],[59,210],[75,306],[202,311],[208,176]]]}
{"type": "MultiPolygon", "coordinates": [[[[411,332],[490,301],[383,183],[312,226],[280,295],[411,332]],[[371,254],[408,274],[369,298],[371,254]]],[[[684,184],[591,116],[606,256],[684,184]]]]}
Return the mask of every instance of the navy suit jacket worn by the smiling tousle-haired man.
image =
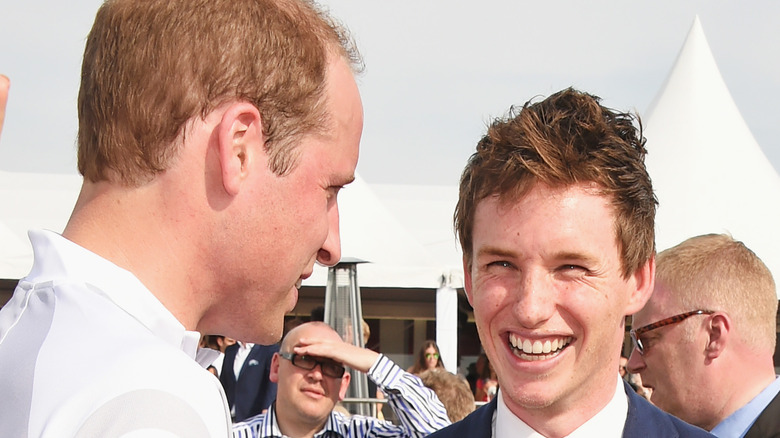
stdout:
{"type": "MultiPolygon", "coordinates": [[[[661,411],[643,399],[627,384],[628,418],[623,427],[626,438],[706,438],[712,437],[703,429],[691,426],[677,417],[661,411]]],[[[493,432],[493,413],[496,411],[497,398],[472,412],[463,420],[429,435],[429,438],[469,437],[491,438],[493,432]]]]}

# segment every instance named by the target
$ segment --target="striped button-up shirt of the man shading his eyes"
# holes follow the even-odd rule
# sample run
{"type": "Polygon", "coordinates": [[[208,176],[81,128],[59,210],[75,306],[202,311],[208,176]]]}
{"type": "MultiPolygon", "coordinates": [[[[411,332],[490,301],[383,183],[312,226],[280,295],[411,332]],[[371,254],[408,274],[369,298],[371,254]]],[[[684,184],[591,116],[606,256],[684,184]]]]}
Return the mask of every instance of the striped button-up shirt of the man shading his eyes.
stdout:
{"type": "MultiPolygon", "coordinates": [[[[424,437],[450,424],[447,411],[436,394],[425,387],[419,377],[405,372],[384,355],[380,354],[368,370],[368,377],[385,393],[401,424],[334,411],[315,437],[424,437]]],[[[234,425],[233,437],[285,437],[279,430],[276,415],[274,403],[266,413],[234,425]]]]}

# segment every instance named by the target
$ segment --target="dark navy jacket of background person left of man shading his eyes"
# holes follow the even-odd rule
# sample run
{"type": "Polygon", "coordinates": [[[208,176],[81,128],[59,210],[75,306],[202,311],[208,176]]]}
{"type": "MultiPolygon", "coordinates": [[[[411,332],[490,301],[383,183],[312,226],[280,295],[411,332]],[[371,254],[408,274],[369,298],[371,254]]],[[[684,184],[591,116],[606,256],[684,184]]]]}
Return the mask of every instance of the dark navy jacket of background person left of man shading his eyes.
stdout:
{"type": "Polygon", "coordinates": [[[252,346],[236,381],[233,362],[238,348],[238,344],[233,344],[225,350],[225,361],[219,373],[228,405],[231,411],[235,408],[233,421],[236,422],[260,414],[276,399],[276,383],[268,380],[268,375],[271,372],[271,358],[279,351],[279,344],[252,346]]]}

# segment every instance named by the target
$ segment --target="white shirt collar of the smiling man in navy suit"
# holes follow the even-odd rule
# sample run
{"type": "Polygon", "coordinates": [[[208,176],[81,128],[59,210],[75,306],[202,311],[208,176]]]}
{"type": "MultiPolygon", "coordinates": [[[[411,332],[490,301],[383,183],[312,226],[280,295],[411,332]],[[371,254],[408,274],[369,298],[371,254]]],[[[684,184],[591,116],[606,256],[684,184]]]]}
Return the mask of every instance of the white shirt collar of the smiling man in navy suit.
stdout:
{"type": "MultiPolygon", "coordinates": [[[[544,435],[533,430],[529,425],[517,418],[509,410],[501,390],[498,392],[498,406],[493,416],[494,438],[544,438],[544,435]]],[[[621,437],[623,426],[628,417],[628,396],[623,387],[623,381],[618,376],[615,394],[612,399],[596,415],[575,429],[568,438],[589,437],[621,437]]]]}

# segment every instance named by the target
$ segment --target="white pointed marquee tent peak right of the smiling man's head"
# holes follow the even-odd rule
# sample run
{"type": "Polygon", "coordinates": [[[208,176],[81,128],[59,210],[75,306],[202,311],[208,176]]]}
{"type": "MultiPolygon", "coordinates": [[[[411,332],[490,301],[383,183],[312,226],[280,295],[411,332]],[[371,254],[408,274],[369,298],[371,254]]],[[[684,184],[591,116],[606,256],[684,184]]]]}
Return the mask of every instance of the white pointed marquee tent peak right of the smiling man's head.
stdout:
{"type": "Polygon", "coordinates": [[[780,280],[780,176],[731,98],[698,17],[647,113],[658,250],[729,233],[780,280]]]}

